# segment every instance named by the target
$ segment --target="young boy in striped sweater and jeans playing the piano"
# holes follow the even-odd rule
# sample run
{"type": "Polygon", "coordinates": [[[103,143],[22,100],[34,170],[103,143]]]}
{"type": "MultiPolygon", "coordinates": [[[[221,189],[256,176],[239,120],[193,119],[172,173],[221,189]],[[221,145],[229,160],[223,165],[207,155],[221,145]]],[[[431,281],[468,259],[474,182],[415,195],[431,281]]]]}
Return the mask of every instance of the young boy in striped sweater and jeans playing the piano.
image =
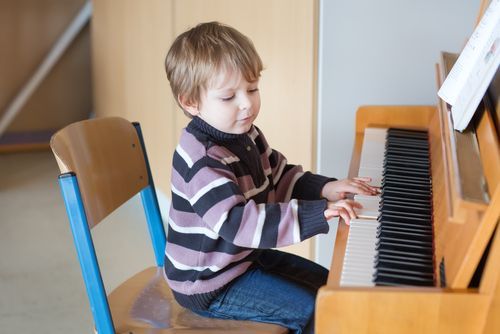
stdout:
{"type": "Polygon", "coordinates": [[[272,250],[347,223],[375,194],[369,179],[337,181],[288,164],[253,125],[262,62],[235,29],[203,23],[181,34],[165,67],[192,118],[173,157],[165,274],[177,301],[215,318],[275,323],[313,332],[317,290],[328,271],[272,250]]]}

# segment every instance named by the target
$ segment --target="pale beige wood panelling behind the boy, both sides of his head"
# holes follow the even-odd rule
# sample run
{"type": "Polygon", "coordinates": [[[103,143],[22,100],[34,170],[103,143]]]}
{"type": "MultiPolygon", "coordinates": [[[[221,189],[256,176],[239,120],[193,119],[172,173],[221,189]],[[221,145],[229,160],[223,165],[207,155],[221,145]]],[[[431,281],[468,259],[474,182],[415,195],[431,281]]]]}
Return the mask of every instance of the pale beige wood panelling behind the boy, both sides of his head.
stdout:
{"type": "MultiPolygon", "coordinates": [[[[316,1],[95,0],[93,75],[98,116],[140,121],[157,188],[169,194],[171,157],[188,118],[163,61],[175,36],[217,20],[249,36],[265,70],[256,124],[290,162],[314,165],[316,1]]],[[[311,242],[291,250],[312,258],[311,242]]]]}

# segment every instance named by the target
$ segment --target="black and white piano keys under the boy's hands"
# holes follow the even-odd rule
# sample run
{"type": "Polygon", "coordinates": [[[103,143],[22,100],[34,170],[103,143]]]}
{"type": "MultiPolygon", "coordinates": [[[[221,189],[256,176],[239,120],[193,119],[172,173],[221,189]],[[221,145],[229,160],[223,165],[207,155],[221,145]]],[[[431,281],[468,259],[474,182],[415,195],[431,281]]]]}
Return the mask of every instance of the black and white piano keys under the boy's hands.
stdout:
{"type": "Polygon", "coordinates": [[[341,286],[434,285],[432,188],[427,132],[365,129],[359,176],[380,196],[363,205],[349,228],[341,286]]]}

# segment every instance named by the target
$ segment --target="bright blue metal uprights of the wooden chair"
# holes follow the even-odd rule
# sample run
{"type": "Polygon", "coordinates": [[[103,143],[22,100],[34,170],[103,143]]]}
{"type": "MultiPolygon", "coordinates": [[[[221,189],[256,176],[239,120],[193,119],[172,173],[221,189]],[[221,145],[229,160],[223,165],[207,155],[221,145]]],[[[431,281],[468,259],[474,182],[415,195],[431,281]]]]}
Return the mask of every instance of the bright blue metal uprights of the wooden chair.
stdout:
{"type": "MultiPolygon", "coordinates": [[[[142,204],[146,213],[149,234],[153,243],[156,265],[163,267],[165,250],[165,229],[160,214],[158,199],[151,176],[146,147],[139,123],[132,123],[137,131],[146,162],[149,185],[141,190],[142,204]]],[[[92,235],[85,215],[85,210],[78,186],[77,175],[64,173],[59,175],[59,186],[70,221],[71,231],[80,261],[83,280],[89,297],[90,308],[94,316],[95,327],[98,333],[115,333],[113,319],[107,299],[106,290],[99,269],[97,255],[92,241],[92,235]]]]}

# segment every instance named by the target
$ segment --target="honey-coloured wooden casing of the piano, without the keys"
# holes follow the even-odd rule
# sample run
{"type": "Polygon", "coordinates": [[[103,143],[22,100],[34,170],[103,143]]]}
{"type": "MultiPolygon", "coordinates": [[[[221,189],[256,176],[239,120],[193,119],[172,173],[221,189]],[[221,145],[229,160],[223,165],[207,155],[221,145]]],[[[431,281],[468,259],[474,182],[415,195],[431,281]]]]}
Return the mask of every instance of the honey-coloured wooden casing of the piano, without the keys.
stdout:
{"type": "Polygon", "coordinates": [[[477,126],[477,139],[490,202],[464,200],[452,185],[458,171],[450,161],[447,112],[442,106],[361,107],[350,168],[350,176],[356,176],[366,127],[429,131],[436,287],[341,287],[348,227],[340,223],[329,280],[317,298],[317,333],[500,333],[498,135],[491,114],[485,112],[477,126]],[[439,284],[443,258],[445,287],[439,284]],[[482,258],[485,264],[479,284],[470,287],[482,258]]]}

